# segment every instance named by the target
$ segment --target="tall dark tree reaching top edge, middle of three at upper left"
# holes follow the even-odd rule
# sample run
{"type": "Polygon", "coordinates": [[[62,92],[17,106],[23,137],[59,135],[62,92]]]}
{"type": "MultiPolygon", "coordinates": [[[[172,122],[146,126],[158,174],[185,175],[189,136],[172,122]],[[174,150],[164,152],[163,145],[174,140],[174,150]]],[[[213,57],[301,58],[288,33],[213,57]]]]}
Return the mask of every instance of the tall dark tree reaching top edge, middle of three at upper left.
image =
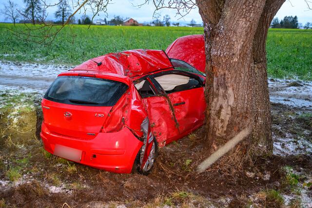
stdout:
{"type": "Polygon", "coordinates": [[[36,23],[36,19],[44,17],[44,15],[40,16],[42,12],[40,0],[24,0],[24,3],[26,3],[26,8],[22,15],[25,19],[30,19],[32,24],[36,23]]]}

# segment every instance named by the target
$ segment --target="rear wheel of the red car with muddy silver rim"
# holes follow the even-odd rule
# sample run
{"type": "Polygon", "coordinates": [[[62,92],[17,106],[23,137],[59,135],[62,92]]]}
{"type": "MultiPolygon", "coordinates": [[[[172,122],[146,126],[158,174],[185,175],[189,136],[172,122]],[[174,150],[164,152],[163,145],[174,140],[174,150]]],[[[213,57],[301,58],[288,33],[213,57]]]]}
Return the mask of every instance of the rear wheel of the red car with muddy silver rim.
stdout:
{"type": "Polygon", "coordinates": [[[147,158],[145,165],[143,166],[142,169],[140,169],[142,159],[143,159],[144,148],[145,148],[145,145],[143,145],[142,148],[140,149],[140,151],[138,151],[133,170],[137,171],[140,174],[148,175],[153,170],[155,160],[157,157],[156,140],[154,139],[154,141],[153,141],[153,146],[152,146],[151,152],[147,158]]]}

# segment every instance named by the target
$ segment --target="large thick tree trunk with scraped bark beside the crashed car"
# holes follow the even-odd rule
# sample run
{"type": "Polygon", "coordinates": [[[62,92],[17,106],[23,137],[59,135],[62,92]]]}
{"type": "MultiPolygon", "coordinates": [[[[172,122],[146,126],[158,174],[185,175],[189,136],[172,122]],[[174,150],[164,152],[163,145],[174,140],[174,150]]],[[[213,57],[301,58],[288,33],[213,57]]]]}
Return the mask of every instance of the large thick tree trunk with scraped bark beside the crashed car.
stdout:
{"type": "Polygon", "coordinates": [[[197,0],[206,43],[208,148],[250,127],[240,155],[272,152],[265,44],[284,1],[197,0]]]}

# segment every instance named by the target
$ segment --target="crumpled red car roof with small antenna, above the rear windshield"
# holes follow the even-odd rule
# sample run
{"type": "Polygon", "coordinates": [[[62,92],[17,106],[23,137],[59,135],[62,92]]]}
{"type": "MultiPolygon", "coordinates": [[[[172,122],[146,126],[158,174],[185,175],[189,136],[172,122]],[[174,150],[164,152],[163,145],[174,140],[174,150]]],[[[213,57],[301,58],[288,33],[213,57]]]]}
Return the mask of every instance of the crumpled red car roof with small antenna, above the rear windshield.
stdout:
{"type": "Polygon", "coordinates": [[[92,58],[71,71],[107,72],[131,78],[169,68],[173,66],[164,51],[137,49],[92,58]],[[102,64],[98,66],[93,60],[102,64]]]}

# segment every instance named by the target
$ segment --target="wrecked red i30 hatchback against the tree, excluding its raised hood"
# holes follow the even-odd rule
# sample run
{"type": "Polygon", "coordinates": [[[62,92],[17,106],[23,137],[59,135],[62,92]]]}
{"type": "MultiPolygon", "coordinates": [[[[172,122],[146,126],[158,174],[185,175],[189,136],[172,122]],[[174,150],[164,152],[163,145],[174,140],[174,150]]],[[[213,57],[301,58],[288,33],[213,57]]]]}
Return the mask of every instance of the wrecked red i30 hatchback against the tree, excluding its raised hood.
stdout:
{"type": "Polygon", "coordinates": [[[157,146],[203,124],[204,85],[203,73],[160,50],[90,59],[59,74],[44,95],[44,149],[102,170],[147,174],[157,146]]]}

